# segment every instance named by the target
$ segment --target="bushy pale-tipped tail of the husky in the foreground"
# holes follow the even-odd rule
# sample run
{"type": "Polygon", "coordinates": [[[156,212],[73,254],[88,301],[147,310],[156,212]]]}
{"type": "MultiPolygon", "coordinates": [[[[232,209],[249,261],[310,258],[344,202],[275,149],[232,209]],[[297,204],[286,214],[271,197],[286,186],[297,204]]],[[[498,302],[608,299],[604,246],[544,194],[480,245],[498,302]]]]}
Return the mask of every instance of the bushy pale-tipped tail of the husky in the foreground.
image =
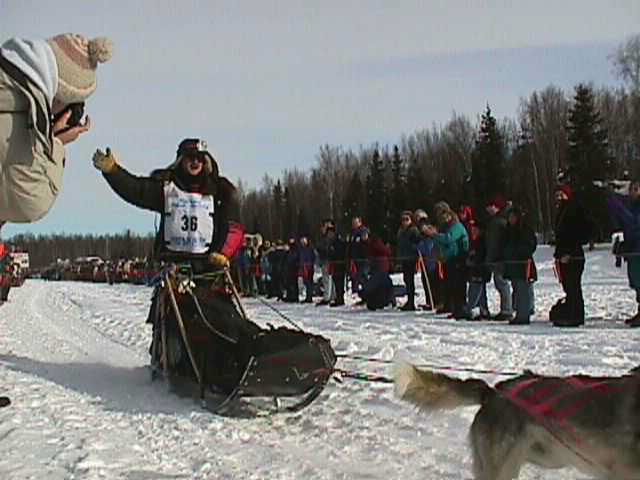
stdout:
{"type": "Polygon", "coordinates": [[[480,405],[493,389],[483,380],[460,380],[443,373],[418,370],[406,362],[396,362],[394,387],[398,398],[423,410],[447,410],[480,405]]]}

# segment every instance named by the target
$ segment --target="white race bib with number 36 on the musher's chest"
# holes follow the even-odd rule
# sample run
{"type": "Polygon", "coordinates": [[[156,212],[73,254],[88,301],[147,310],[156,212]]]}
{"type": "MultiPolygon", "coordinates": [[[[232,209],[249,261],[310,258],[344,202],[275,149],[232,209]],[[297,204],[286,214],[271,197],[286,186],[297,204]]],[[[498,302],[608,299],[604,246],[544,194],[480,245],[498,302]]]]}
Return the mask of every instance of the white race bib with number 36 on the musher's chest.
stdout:
{"type": "Polygon", "coordinates": [[[164,241],[174,252],[205,253],[213,241],[212,195],[189,193],[175,183],[164,186],[164,241]]]}

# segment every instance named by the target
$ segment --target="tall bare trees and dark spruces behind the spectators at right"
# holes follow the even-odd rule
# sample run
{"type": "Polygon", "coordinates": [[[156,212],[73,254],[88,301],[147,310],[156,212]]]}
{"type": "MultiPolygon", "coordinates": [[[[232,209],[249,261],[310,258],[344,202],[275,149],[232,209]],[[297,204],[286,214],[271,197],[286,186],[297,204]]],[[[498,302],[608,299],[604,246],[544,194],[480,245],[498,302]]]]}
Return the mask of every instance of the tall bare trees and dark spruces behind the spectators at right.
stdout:
{"type": "Polygon", "coordinates": [[[566,92],[550,85],[522,98],[516,118],[498,120],[487,105],[476,122],[454,113],[395,145],[323,145],[309,171],[265,175],[250,190],[238,182],[241,217],[252,231],[285,239],[315,236],[325,217],[345,232],[359,215],[393,241],[402,210],[445,200],[482,211],[500,193],[549,238],[553,189],[563,182],[587,204],[604,238],[610,226],[602,185],[640,176],[640,35],[610,60],[623,86],[579,84],[566,92]]]}

